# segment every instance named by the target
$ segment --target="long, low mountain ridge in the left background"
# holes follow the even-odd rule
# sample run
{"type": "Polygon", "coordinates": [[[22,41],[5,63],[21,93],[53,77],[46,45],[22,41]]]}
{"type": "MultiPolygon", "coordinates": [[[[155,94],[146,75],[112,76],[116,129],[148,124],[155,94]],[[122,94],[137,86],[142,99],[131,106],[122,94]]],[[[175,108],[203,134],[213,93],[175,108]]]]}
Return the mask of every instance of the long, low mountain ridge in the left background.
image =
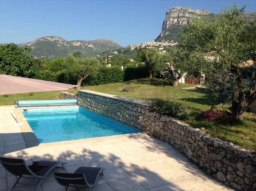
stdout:
{"type": "Polygon", "coordinates": [[[17,46],[21,48],[30,46],[32,48],[29,53],[30,56],[46,59],[65,57],[75,51],[80,51],[82,57],[92,57],[101,52],[122,48],[122,46],[107,38],[92,41],[66,41],[58,36],[36,38],[31,42],[17,44],[17,46]]]}

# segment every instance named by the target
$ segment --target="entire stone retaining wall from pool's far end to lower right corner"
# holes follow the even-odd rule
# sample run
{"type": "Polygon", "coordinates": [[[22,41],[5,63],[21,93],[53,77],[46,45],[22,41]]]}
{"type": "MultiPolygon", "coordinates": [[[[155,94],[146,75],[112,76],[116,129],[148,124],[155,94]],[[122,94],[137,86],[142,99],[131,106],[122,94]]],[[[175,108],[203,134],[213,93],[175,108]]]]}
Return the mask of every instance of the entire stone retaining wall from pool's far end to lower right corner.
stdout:
{"type": "MultiPolygon", "coordinates": [[[[62,96],[73,99],[67,93],[62,96]]],[[[237,190],[256,190],[256,154],[177,119],[150,113],[146,101],[81,90],[78,104],[169,142],[208,174],[237,190]]]]}

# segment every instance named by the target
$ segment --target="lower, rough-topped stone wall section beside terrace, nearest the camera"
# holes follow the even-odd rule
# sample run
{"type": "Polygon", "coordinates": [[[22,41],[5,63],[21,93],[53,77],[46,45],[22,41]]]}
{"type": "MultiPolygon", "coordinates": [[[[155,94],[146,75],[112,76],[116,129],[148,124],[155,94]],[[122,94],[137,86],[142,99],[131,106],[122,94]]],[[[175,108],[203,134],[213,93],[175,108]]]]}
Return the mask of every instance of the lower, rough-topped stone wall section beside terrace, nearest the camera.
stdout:
{"type": "Polygon", "coordinates": [[[237,190],[256,190],[256,154],[242,150],[169,116],[149,113],[147,133],[165,140],[208,174],[237,190]]]}

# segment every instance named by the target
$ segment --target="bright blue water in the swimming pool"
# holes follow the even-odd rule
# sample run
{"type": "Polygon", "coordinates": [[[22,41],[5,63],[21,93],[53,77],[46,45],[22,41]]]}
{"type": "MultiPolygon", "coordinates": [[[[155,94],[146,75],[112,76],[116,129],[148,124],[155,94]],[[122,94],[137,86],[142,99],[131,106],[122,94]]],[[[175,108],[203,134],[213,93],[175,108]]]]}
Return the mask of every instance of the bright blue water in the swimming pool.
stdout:
{"type": "Polygon", "coordinates": [[[141,132],[83,107],[21,111],[40,143],[141,132]]]}

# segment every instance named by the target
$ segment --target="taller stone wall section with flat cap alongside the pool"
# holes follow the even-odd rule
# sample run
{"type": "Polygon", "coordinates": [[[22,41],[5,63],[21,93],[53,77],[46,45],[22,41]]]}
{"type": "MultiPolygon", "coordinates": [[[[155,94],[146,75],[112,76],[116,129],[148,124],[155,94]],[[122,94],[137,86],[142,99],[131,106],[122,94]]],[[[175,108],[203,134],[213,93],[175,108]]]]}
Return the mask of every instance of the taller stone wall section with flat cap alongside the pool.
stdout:
{"type": "Polygon", "coordinates": [[[149,114],[149,103],[147,101],[134,100],[89,90],[79,90],[78,104],[116,121],[146,131],[145,123],[139,119],[149,114]]]}

